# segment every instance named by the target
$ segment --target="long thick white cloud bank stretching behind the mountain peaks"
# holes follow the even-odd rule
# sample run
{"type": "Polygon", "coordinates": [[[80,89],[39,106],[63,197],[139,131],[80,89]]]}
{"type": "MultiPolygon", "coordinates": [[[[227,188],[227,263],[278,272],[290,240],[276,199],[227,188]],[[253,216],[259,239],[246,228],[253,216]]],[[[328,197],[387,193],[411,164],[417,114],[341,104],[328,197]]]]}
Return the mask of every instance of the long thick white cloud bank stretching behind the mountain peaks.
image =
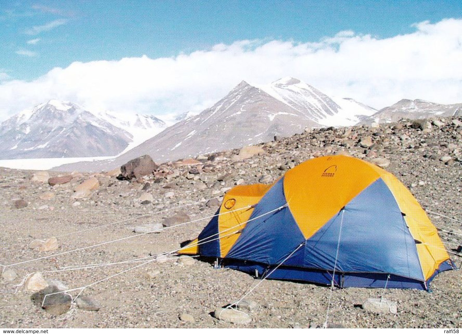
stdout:
{"type": "Polygon", "coordinates": [[[402,98],[462,102],[462,20],[378,39],[340,31],[319,42],[237,41],[172,58],[75,62],[32,82],[0,84],[0,119],[51,98],[128,113],[199,112],[240,81],[292,76],[375,108],[402,98]]]}

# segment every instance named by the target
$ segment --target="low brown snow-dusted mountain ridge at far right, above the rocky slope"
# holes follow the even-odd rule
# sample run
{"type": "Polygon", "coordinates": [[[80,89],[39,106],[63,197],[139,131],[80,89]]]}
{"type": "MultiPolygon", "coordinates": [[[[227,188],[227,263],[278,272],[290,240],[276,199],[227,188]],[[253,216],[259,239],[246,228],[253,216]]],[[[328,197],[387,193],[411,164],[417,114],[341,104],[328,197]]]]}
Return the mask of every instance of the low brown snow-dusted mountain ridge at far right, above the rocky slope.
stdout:
{"type": "Polygon", "coordinates": [[[400,119],[427,119],[462,114],[462,103],[438,104],[424,100],[403,99],[390,107],[385,107],[364,119],[361,123],[392,123],[400,119]]]}

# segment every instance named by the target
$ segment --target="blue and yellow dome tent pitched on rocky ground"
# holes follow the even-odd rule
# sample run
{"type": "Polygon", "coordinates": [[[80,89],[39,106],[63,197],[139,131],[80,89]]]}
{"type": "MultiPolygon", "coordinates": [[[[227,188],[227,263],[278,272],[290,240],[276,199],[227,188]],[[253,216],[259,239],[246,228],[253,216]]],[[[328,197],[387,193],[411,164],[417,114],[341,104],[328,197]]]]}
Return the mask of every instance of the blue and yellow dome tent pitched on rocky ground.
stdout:
{"type": "Polygon", "coordinates": [[[181,253],[340,287],[428,290],[436,274],[453,268],[411,192],[382,168],[343,155],[305,161],[273,185],[231,189],[181,253]]]}

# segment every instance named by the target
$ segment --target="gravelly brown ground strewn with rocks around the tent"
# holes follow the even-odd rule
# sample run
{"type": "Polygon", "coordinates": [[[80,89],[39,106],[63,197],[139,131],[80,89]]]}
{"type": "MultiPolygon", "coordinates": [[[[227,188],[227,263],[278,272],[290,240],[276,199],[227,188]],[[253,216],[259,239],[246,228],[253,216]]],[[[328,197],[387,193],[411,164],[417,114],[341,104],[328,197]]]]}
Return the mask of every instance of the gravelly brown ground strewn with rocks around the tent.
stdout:
{"type": "MultiPolygon", "coordinates": [[[[215,269],[200,259],[166,256],[144,265],[136,262],[194,239],[232,186],[271,183],[298,163],[320,155],[352,155],[394,173],[428,212],[449,217],[429,214],[451,258],[461,264],[456,254],[462,244],[461,118],[326,128],[275,139],[240,154],[232,150],[167,163],[154,174],[131,181],[117,179],[119,171],[90,175],[0,168],[0,264],[6,266],[0,280],[0,327],[322,326],[330,287],[264,280],[247,297],[256,303],[246,311],[251,322],[236,324],[218,320],[212,312],[241,298],[261,280],[215,269]],[[194,222],[175,227],[187,221],[194,222]],[[140,233],[153,223],[173,227],[140,233]],[[120,240],[109,243],[116,239],[120,240]],[[97,244],[103,245],[89,247],[97,244]],[[40,257],[44,258],[27,262],[40,257]],[[108,262],[124,263],[64,270],[108,262]],[[128,271],[135,266],[139,267],[128,271]],[[81,291],[80,296],[99,310],[72,306],[61,315],[43,310],[31,300],[31,282],[20,285],[34,272],[42,272],[44,284],[80,288],[70,294],[75,298],[81,291]]],[[[328,326],[460,328],[461,281],[462,271],[452,270],[433,280],[432,292],[334,289],[328,326]],[[361,307],[367,298],[382,295],[396,304],[396,313],[361,307]]]]}

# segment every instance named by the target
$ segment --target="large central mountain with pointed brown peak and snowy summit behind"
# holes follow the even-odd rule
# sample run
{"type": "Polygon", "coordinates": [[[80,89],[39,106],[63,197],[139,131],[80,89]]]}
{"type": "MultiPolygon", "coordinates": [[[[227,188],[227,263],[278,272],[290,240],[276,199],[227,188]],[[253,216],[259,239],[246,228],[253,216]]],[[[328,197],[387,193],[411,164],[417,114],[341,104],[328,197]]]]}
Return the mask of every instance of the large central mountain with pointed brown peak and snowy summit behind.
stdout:
{"type": "Polygon", "coordinates": [[[307,127],[350,125],[374,112],[353,100],[334,101],[294,78],[260,88],[243,81],[200,114],[183,119],[112,161],[85,163],[84,168],[111,169],[145,154],[156,162],[172,161],[271,141],[274,136],[290,136],[307,127]]]}

